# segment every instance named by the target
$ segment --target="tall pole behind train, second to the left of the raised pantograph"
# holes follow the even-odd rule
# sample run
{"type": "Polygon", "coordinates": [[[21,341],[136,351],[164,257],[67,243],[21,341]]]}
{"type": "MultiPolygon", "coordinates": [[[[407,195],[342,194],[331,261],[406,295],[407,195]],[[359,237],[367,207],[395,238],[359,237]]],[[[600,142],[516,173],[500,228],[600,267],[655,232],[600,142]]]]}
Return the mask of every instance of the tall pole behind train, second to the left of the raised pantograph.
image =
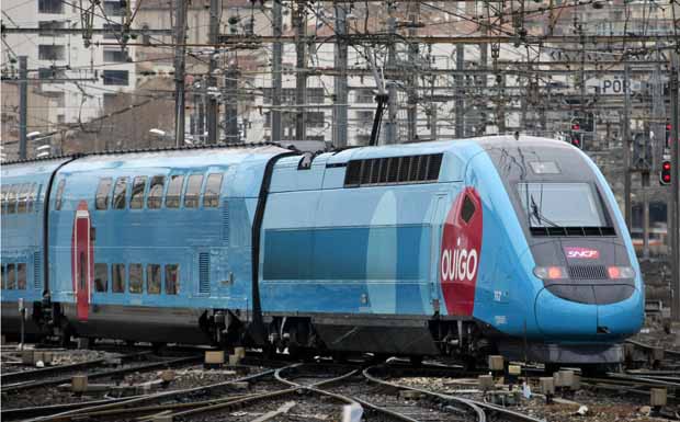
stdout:
{"type": "Polygon", "coordinates": [[[307,34],[306,3],[299,1],[295,9],[295,50],[297,55],[295,69],[295,103],[297,112],[295,114],[295,138],[297,140],[307,139],[307,46],[305,35],[307,34]]]}

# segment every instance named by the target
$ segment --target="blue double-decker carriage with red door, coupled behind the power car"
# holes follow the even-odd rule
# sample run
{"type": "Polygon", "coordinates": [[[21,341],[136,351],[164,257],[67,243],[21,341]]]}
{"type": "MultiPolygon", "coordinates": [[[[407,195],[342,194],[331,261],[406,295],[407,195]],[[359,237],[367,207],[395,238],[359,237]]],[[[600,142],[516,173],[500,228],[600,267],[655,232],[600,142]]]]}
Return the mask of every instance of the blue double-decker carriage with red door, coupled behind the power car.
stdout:
{"type": "Polygon", "coordinates": [[[239,341],[220,337],[251,318],[251,224],[268,162],[288,152],[103,153],[59,169],[49,278],[66,334],[239,341]]]}

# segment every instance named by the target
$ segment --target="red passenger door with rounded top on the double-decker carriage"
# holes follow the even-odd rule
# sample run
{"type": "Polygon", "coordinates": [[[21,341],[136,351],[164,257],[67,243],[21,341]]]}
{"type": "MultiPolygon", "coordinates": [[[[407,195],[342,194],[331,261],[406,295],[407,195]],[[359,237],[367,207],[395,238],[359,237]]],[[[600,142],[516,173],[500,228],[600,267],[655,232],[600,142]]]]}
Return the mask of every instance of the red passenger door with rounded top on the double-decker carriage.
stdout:
{"type": "Polygon", "coordinates": [[[71,244],[71,273],[78,319],[88,320],[90,308],[90,286],[93,278],[92,242],[90,239],[90,212],[88,203],[81,201],[76,210],[73,237],[71,244]]]}

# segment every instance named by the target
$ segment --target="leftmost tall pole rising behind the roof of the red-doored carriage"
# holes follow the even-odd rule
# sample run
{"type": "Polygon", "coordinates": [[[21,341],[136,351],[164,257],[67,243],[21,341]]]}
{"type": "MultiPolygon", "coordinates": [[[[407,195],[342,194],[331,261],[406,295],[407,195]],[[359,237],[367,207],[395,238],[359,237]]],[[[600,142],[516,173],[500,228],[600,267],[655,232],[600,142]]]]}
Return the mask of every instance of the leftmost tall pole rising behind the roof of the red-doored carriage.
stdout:
{"type": "Polygon", "coordinates": [[[184,44],[186,39],[186,1],[175,0],[174,9],[174,145],[184,145],[184,44]]]}

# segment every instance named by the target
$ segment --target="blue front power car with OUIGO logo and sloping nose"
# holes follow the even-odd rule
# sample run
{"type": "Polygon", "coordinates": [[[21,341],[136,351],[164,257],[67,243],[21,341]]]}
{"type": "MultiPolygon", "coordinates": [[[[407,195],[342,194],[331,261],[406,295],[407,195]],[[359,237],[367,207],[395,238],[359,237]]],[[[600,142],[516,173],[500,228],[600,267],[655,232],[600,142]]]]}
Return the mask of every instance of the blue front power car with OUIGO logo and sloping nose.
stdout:
{"type": "Polygon", "coordinates": [[[559,141],[284,158],[260,236],[259,296],[279,347],[609,363],[642,324],[614,197],[559,141]]]}

